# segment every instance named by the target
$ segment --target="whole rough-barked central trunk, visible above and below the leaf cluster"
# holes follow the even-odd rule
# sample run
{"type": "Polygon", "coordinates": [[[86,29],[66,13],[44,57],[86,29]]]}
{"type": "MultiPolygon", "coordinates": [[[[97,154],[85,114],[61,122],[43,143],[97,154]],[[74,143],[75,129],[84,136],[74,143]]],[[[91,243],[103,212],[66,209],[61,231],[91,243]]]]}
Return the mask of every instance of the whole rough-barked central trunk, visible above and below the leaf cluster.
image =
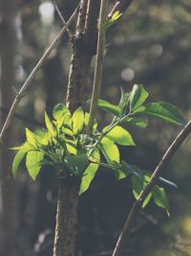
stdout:
{"type": "MultiPolygon", "coordinates": [[[[72,58],[66,99],[72,112],[77,106],[83,106],[86,99],[88,72],[96,54],[99,7],[100,0],[80,2],[76,31],[71,38],[72,58]],[[88,18],[92,19],[91,22],[88,18]],[[86,35],[94,36],[90,38],[86,35]]],[[[74,176],[60,176],[53,256],[74,256],[79,185],[80,180],[74,176]]]]}

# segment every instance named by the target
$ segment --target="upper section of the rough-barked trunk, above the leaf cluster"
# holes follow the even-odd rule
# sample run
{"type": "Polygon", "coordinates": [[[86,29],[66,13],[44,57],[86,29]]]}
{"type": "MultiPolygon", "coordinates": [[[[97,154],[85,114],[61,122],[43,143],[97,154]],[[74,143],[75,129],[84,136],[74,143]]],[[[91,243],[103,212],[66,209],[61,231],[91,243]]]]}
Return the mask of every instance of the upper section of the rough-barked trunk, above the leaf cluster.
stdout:
{"type": "MultiPolygon", "coordinates": [[[[84,2],[82,0],[81,2],[84,2]]],[[[87,4],[87,1],[85,0],[87,4]]],[[[82,3],[81,3],[82,6],[82,3]]],[[[89,0],[87,11],[81,9],[78,14],[78,22],[75,35],[72,38],[72,58],[67,89],[66,103],[74,111],[79,105],[86,102],[86,91],[88,85],[88,72],[92,58],[96,54],[96,35],[97,19],[100,8],[100,0],[89,0]],[[84,15],[86,14],[85,27],[79,26],[84,24],[84,15]],[[80,19],[82,21],[80,21],[80,19]],[[80,28],[80,31],[78,29],[80,28]]]]}

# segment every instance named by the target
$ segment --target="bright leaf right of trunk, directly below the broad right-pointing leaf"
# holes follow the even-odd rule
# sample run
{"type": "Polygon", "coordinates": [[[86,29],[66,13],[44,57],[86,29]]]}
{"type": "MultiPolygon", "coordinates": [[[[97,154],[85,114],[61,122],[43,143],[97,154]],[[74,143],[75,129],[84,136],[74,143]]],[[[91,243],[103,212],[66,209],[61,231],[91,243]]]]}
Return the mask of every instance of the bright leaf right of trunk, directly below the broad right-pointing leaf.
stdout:
{"type": "Polygon", "coordinates": [[[100,141],[100,150],[103,152],[108,163],[112,164],[112,162],[114,161],[116,161],[117,163],[120,162],[117,145],[109,138],[102,138],[102,140],[100,141]]]}

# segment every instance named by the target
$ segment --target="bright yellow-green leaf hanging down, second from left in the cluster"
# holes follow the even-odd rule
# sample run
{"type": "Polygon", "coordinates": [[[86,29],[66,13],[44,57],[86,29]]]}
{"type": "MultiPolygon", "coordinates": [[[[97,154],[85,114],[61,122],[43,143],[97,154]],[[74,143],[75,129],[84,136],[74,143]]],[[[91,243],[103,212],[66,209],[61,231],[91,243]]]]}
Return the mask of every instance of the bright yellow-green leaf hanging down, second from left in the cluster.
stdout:
{"type": "Polygon", "coordinates": [[[29,175],[35,180],[36,176],[40,172],[42,161],[44,159],[44,153],[41,151],[29,151],[26,157],[26,166],[29,175]]]}

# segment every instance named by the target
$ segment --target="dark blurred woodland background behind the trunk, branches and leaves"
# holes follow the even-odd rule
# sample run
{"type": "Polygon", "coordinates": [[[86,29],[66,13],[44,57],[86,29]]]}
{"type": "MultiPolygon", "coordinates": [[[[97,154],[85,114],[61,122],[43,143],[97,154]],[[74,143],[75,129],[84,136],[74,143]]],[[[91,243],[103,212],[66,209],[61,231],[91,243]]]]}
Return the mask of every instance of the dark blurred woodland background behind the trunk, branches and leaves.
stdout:
{"type": "MultiPolygon", "coordinates": [[[[76,0],[57,0],[67,20],[76,0]]],[[[114,1],[111,1],[114,4],[114,1]]],[[[177,105],[191,116],[191,2],[135,0],[107,37],[102,98],[117,104],[120,87],[144,84],[150,101],[177,105]]],[[[0,0],[0,129],[22,83],[44,53],[61,21],[52,1],[0,0]]],[[[13,180],[13,152],[25,139],[25,127],[44,126],[45,109],[65,100],[70,43],[63,36],[17,107],[0,158],[0,255],[51,256],[57,197],[56,170],[44,168],[34,183],[23,166],[13,180]],[[3,245],[4,244],[4,245],[3,245]]],[[[90,72],[91,92],[94,75],[90,72]]],[[[111,117],[98,113],[101,126],[111,117]]],[[[137,147],[122,149],[121,158],[153,171],[180,127],[148,120],[148,128],[130,130],[137,147]]],[[[191,140],[187,139],[164,170],[178,189],[166,186],[171,218],[154,203],[141,212],[125,255],[191,255],[191,140]]],[[[99,170],[80,197],[76,256],[111,255],[134,201],[131,183],[117,182],[111,170],[99,170]]]]}

